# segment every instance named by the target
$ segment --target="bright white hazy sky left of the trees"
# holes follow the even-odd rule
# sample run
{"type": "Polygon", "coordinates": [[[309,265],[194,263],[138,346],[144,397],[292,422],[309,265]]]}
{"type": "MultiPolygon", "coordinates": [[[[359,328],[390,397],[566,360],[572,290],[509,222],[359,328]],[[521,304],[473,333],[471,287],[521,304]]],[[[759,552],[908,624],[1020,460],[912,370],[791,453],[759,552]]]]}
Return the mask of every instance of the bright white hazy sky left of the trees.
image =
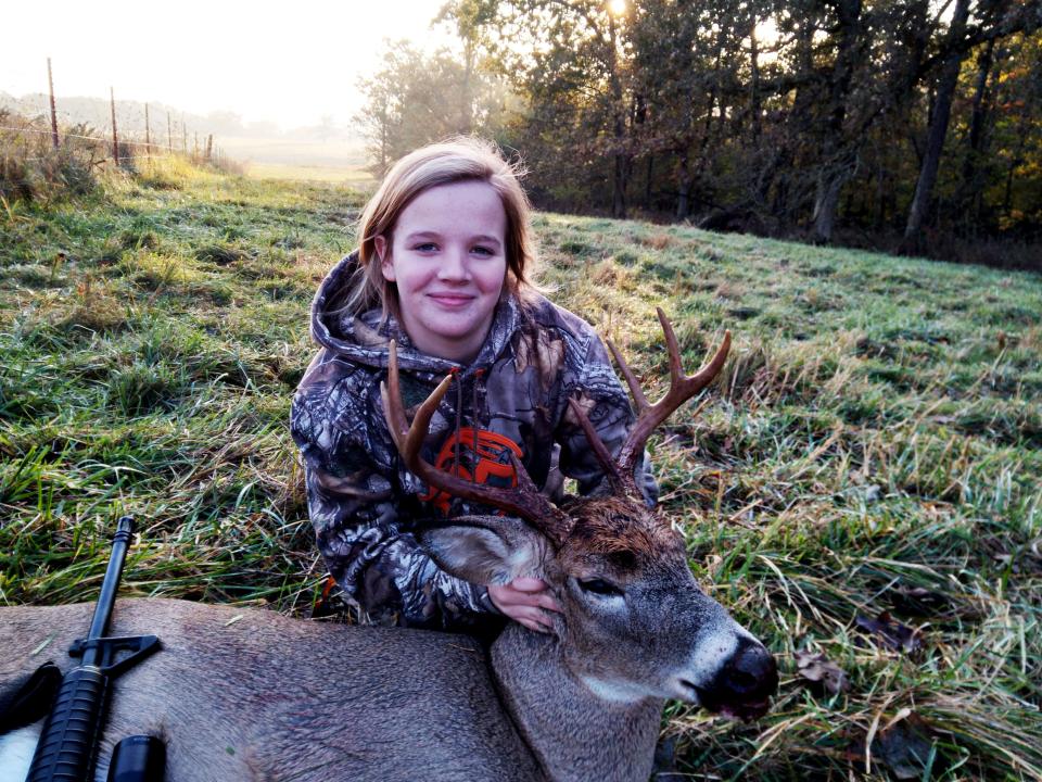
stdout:
{"type": "Polygon", "coordinates": [[[112,87],[116,100],[233,112],[283,128],[325,115],[350,123],[365,104],[358,79],[381,67],[389,40],[408,38],[427,51],[453,45],[448,26],[431,27],[444,4],[298,0],[291,12],[181,0],[174,13],[139,0],[3,3],[10,34],[0,46],[0,92],[45,92],[51,56],[59,99],[107,100],[112,87]]]}

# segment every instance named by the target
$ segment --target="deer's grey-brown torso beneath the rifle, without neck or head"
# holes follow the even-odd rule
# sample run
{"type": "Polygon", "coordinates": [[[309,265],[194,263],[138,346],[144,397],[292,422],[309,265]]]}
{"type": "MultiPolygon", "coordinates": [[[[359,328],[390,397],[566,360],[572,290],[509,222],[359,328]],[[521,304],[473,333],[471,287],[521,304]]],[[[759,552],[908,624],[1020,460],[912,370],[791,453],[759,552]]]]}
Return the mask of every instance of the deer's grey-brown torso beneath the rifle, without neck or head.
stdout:
{"type": "MultiPolygon", "coordinates": [[[[51,636],[42,658],[72,667],[61,657],[76,632],[55,630],[86,627],[90,609],[0,610],[0,681],[39,665],[29,653],[51,636]]],[[[166,741],[169,782],[541,777],[467,636],[119,601],[112,633],[142,628],[163,649],[117,680],[98,780],[134,733],[166,741]]]]}

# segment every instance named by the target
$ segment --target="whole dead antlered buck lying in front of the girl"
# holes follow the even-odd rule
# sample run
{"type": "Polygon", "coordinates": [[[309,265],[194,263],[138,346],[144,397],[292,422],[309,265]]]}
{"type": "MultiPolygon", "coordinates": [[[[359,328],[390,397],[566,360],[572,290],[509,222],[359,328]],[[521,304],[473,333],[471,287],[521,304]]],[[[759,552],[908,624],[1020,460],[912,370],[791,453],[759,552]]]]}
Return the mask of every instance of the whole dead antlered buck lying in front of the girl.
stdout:
{"type": "MultiPolygon", "coordinates": [[[[485,649],[468,636],[423,630],[119,601],[110,634],[156,634],[164,648],[116,684],[97,779],[105,778],[119,737],[151,733],[167,743],[169,782],[644,782],[666,698],[762,715],[777,685],[774,658],[699,590],[683,539],[646,506],[634,477],[648,436],[712,380],[729,348],[728,335],[685,377],[673,330],[659,317],[670,390],[648,404],[612,346],[638,419],[613,459],[572,405],[610,491],[561,507],[539,494],[519,462],[509,490],[425,463],[420,445],[447,384],[409,426],[392,348],[384,409],[408,468],[506,512],[452,519],[421,532],[422,544],[445,570],[475,583],[544,579],[562,609],[552,633],[510,623],[485,649]]],[[[42,659],[68,666],[62,653],[84,633],[91,608],[0,609],[0,707],[3,691],[42,659]]],[[[31,735],[22,729],[5,739],[31,743],[31,735]]],[[[5,749],[0,744],[0,780],[21,782],[27,761],[20,767],[5,749]]]]}

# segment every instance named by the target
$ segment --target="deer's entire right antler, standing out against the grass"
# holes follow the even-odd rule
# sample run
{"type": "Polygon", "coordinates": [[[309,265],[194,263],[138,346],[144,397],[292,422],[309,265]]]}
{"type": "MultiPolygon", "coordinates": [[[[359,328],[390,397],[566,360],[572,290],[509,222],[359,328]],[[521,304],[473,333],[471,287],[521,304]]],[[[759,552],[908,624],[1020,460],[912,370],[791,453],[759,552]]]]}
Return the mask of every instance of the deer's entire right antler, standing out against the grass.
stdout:
{"type": "Polygon", "coordinates": [[[597,436],[593,426],[590,426],[586,415],[579,405],[572,404],[572,411],[575,413],[583,430],[586,432],[590,447],[593,447],[598,461],[600,461],[605,467],[612,488],[617,492],[621,490],[633,496],[640,496],[634,469],[644,455],[644,446],[651,436],[651,432],[653,432],[662,421],[669,418],[677,407],[712,382],[713,378],[715,378],[723,368],[724,361],[727,358],[727,352],[730,350],[730,331],[725,331],[720,348],[716,349],[716,353],[713,354],[709,363],[703,365],[695,375],[688,377],[684,374],[684,369],[681,366],[681,348],[677,344],[676,335],[673,332],[673,325],[665,316],[665,313],[662,312],[661,307],[657,307],[656,312],[659,314],[659,323],[662,324],[662,332],[665,335],[665,346],[670,355],[670,390],[655,404],[648,402],[640,388],[640,383],[637,381],[630,365],[626,364],[626,360],[622,357],[622,353],[619,352],[611,340],[608,340],[608,346],[615,356],[619,370],[626,379],[630,393],[633,395],[634,406],[637,408],[637,420],[630,430],[630,434],[626,437],[626,441],[622,444],[622,447],[619,450],[619,455],[614,461],[608,455],[608,449],[605,447],[605,444],[600,441],[600,438],[597,436]]]}

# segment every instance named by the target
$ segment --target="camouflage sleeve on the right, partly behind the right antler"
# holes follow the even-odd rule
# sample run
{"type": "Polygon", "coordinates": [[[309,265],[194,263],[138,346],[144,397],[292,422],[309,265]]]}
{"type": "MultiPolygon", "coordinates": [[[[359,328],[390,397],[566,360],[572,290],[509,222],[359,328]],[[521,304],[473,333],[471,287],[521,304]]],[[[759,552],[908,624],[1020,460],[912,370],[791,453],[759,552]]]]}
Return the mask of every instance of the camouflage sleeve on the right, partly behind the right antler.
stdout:
{"type": "MultiPolygon", "coordinates": [[[[560,468],[561,472],[577,481],[580,494],[585,495],[600,483],[603,469],[589,447],[585,432],[567,406],[567,400],[572,398],[579,402],[612,454],[619,453],[634,421],[630,398],[611,366],[608,351],[596,335],[589,341],[573,381],[566,383],[563,391],[566,406],[558,433],[558,442],[561,443],[560,468]]],[[[645,500],[649,506],[655,505],[659,499],[659,487],[651,474],[651,461],[647,453],[639,471],[644,475],[641,490],[645,500]]]]}

